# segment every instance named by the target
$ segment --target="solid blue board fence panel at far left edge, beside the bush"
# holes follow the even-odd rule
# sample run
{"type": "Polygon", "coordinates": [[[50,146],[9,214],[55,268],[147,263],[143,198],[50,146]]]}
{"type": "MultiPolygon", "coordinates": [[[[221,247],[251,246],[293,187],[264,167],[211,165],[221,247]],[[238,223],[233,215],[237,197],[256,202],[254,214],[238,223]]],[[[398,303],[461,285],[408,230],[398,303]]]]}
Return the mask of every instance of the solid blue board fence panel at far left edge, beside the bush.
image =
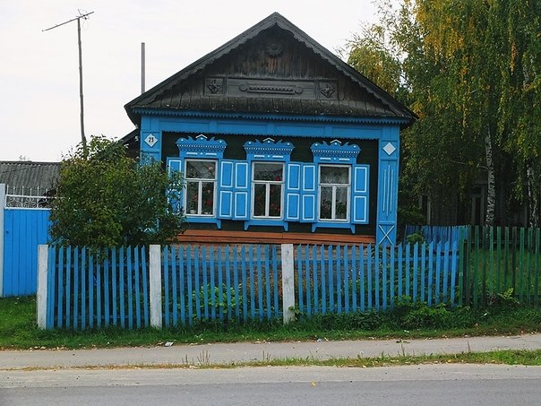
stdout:
{"type": "Polygon", "coordinates": [[[47,244],[48,227],[46,209],[4,209],[4,296],[36,293],[38,246],[47,244]]]}

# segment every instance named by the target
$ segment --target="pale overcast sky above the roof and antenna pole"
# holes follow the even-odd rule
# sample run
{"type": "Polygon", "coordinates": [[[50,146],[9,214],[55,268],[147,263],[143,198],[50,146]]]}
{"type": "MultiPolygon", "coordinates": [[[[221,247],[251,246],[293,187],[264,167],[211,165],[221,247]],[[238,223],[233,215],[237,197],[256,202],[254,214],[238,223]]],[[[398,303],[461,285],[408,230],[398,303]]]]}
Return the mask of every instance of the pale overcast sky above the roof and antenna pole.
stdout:
{"type": "Polygon", "coordinates": [[[81,141],[77,23],[84,12],[82,68],[87,138],[121,138],[134,126],[124,105],[146,89],[278,12],[336,53],[372,0],[0,0],[0,160],[62,160],[81,141]],[[324,5],[323,5],[324,4],[324,5]]]}

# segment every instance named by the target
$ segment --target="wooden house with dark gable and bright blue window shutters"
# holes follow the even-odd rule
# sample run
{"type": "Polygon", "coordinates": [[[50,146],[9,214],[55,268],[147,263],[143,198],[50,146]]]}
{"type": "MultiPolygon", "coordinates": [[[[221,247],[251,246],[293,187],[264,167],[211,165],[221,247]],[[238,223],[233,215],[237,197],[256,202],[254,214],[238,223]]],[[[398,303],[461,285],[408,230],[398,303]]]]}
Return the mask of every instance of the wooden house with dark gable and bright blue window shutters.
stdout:
{"type": "Polygon", "coordinates": [[[415,115],[279,13],[125,105],[192,242],[394,243],[415,115]]]}

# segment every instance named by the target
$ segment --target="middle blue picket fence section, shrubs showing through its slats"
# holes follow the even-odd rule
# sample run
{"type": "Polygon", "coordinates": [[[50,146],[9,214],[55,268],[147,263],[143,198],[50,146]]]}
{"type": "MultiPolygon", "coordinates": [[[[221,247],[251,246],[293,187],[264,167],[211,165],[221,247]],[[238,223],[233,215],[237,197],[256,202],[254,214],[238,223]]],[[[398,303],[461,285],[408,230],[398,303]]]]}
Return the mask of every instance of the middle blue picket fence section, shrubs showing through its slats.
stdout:
{"type": "Polygon", "coordinates": [[[162,268],[165,326],[282,314],[279,246],[169,246],[162,268]]]}

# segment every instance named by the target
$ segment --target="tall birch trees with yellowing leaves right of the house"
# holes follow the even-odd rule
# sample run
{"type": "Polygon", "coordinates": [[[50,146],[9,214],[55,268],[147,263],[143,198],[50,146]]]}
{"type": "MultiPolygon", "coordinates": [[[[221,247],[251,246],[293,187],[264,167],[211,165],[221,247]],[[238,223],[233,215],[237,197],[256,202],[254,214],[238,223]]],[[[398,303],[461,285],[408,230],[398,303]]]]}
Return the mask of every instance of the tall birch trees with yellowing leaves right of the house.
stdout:
{"type": "Polygon", "coordinates": [[[352,41],[348,62],[418,115],[402,149],[417,193],[445,206],[456,190],[466,203],[469,187],[485,178],[492,225],[496,187],[514,188],[520,200],[527,185],[530,223],[538,225],[541,2],[379,4],[380,22],[352,41]],[[375,68],[366,69],[370,59],[375,68]]]}

